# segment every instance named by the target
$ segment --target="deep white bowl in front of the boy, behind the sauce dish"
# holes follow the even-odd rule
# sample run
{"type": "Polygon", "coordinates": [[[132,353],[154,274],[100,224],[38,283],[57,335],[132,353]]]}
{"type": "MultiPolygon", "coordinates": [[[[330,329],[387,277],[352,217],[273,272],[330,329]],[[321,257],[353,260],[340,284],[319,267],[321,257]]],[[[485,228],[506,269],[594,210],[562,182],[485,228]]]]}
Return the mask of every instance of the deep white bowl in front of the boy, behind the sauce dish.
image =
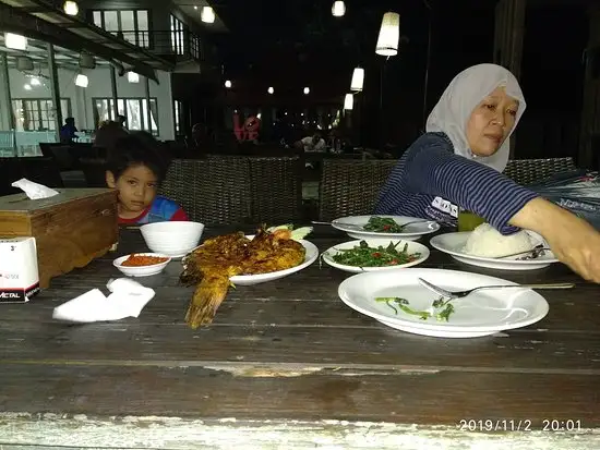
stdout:
{"type": "Polygon", "coordinates": [[[171,258],[180,258],[197,247],[204,223],[156,222],[140,228],[149,250],[171,258]]]}

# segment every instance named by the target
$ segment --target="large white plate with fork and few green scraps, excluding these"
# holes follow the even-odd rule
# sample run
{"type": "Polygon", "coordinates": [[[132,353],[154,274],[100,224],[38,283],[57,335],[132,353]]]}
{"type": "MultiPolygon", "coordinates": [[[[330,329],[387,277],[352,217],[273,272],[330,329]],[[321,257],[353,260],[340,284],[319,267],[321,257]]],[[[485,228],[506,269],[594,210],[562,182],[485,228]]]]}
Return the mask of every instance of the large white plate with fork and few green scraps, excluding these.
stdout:
{"type": "Polygon", "coordinates": [[[338,294],[351,308],[381,323],[405,331],[439,337],[471,338],[526,327],[548,314],[548,302],[530,289],[483,290],[465,299],[454,300],[454,314],[447,323],[421,320],[397,308],[397,314],[376,297],[403,297],[416,311],[431,307],[436,295],[419,284],[423,278],[451,291],[492,284],[516,284],[484,275],[443,269],[399,269],[355,275],[339,284],[338,294]]]}

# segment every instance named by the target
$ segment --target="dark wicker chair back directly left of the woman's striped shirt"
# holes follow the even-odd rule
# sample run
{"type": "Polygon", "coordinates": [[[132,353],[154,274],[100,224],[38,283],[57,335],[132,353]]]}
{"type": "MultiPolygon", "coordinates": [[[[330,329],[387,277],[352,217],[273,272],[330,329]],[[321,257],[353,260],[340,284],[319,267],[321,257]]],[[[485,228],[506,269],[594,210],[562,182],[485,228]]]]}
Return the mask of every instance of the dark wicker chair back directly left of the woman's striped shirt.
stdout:
{"type": "Polygon", "coordinates": [[[373,212],[377,195],[397,161],[324,160],[320,220],[373,212]]]}

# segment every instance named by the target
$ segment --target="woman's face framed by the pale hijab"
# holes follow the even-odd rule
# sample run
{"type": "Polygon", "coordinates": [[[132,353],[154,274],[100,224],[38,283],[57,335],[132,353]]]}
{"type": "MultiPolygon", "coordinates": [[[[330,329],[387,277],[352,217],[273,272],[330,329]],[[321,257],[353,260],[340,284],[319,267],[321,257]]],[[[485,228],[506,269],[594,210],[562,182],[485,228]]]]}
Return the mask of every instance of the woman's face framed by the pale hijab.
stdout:
{"type": "Polygon", "coordinates": [[[515,125],[519,104],[496,87],[471,112],[467,122],[467,142],[477,156],[492,156],[515,125]]]}

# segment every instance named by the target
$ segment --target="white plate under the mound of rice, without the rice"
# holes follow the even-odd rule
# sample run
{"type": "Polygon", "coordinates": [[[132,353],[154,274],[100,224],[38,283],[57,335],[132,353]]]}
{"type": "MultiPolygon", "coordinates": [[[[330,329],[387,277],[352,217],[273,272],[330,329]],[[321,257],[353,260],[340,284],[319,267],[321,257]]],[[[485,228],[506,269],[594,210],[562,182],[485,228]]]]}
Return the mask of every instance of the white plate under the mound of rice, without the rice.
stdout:
{"type": "MultiPolygon", "coordinates": [[[[528,233],[531,236],[533,245],[544,244],[544,246],[548,246],[539,234],[529,231],[528,233]]],[[[547,267],[552,263],[559,263],[559,259],[556,259],[554,254],[550,251],[545,251],[543,256],[538,256],[536,259],[526,260],[516,260],[516,258],[524,255],[517,255],[506,259],[468,255],[465,253],[464,248],[470,234],[470,231],[440,234],[432,238],[430,244],[440,252],[447,253],[456,260],[470,264],[471,266],[487,267],[490,269],[535,270],[547,267]]]]}

